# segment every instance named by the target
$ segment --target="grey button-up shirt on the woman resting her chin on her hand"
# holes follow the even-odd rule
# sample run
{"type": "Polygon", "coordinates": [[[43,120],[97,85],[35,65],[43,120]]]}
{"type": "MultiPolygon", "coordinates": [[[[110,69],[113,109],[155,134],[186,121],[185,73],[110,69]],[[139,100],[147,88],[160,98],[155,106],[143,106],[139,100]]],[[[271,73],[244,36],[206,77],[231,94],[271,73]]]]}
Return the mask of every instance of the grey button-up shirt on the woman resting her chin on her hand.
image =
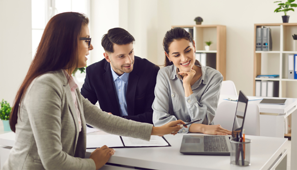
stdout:
{"type": "MultiPolygon", "coordinates": [[[[199,118],[202,120],[197,123],[213,124],[223,76],[211,67],[201,66],[198,60],[195,65],[201,67],[202,76],[191,86],[193,94],[188,97],[185,97],[183,81],[176,66],[159,70],[152,105],[155,126],[178,119],[189,122],[199,118]]],[[[183,127],[179,132],[188,133],[189,128],[183,127]]]]}

